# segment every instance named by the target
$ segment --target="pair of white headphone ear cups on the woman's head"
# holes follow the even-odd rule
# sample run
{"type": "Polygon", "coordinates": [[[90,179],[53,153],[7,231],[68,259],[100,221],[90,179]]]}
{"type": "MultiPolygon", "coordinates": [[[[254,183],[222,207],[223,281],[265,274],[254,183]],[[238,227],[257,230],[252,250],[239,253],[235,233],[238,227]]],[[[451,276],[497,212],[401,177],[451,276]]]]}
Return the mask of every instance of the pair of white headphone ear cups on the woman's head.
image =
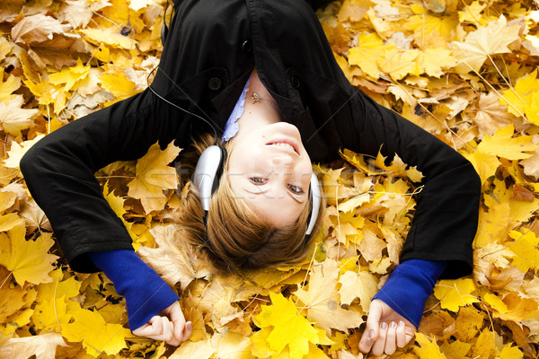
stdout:
{"type": "MultiPolygon", "coordinates": [[[[219,185],[219,180],[223,174],[225,164],[226,150],[224,147],[216,144],[210,145],[202,154],[200,154],[199,162],[195,172],[191,177],[191,182],[199,190],[200,202],[202,209],[208,213],[209,199],[213,195],[219,185]]],[[[309,186],[309,196],[313,201],[313,208],[309,216],[309,224],[305,235],[309,236],[314,230],[318,212],[321,206],[321,193],[318,178],[313,173],[309,186]]]]}

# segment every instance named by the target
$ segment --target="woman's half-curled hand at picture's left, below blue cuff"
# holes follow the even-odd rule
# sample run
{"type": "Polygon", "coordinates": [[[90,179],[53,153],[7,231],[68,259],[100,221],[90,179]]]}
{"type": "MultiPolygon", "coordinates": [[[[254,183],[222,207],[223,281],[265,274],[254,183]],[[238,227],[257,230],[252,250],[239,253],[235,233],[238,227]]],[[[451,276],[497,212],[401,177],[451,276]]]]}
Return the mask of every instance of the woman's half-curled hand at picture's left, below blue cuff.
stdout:
{"type": "Polygon", "coordinates": [[[159,315],[148,320],[145,325],[133,330],[133,334],[139,337],[163,340],[171,346],[179,346],[189,339],[191,331],[192,323],[185,321],[180,302],[173,302],[159,315]]]}

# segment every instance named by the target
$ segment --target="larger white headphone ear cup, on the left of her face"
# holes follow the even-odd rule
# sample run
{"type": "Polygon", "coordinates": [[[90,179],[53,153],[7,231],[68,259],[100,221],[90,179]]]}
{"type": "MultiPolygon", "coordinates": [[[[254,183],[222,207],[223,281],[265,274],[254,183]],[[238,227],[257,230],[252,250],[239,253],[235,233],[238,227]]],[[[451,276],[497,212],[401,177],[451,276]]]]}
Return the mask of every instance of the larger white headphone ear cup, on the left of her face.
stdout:
{"type": "Polygon", "coordinates": [[[191,183],[199,190],[200,202],[205,211],[209,210],[209,199],[216,191],[223,175],[225,159],[224,147],[216,144],[209,146],[200,154],[199,162],[191,177],[191,183]]]}

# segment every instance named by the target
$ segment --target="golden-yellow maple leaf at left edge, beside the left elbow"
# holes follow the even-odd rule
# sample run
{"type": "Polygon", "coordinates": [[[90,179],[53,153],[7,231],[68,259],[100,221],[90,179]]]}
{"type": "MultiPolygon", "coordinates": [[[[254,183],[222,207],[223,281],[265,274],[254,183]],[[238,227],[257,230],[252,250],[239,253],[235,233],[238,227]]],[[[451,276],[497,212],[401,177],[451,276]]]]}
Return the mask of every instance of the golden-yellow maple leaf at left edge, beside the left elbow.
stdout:
{"type": "Polygon", "coordinates": [[[54,244],[51,233],[41,233],[36,241],[26,241],[26,230],[15,226],[8,234],[0,233],[0,265],[13,273],[17,283],[38,285],[52,282],[49,272],[57,256],[49,254],[54,244]]]}

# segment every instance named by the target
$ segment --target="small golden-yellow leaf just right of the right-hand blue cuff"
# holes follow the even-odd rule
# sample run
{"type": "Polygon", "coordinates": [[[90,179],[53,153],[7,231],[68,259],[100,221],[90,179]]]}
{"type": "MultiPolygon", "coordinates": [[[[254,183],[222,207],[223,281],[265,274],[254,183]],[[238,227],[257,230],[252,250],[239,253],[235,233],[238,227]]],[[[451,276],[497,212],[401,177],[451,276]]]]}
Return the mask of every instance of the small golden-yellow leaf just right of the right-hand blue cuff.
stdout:
{"type": "Polygon", "coordinates": [[[434,296],[440,301],[440,306],[449,311],[458,311],[459,307],[479,300],[473,295],[477,286],[473,279],[444,279],[434,287],[434,296]]]}

